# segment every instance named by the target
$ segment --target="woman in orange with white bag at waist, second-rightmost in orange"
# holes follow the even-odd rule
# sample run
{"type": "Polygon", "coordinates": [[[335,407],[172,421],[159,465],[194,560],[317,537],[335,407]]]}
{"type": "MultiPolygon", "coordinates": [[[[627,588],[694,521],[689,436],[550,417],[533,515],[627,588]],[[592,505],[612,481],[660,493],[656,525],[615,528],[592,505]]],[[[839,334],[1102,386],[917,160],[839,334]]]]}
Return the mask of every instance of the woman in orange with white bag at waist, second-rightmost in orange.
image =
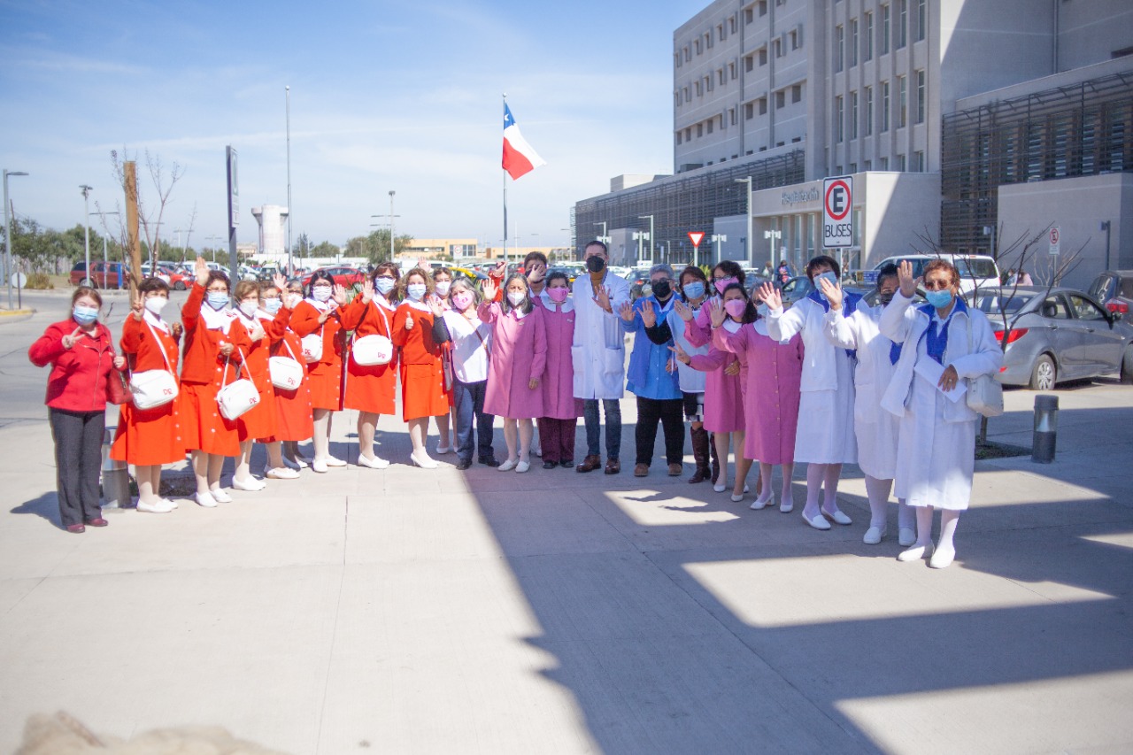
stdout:
{"type": "MultiPolygon", "coordinates": [[[[398,283],[398,266],[383,262],[374,275],[363,283],[361,296],[342,309],[342,326],[355,331],[355,340],[367,336],[382,336],[393,340],[392,322],[397,306],[390,295],[398,283]]],[[[358,409],[358,466],[384,469],[387,459],[374,453],[374,434],[377,418],[393,414],[393,395],[398,389],[398,356],[386,364],[360,365],[353,357],[347,363],[346,408],[358,409]]]]}

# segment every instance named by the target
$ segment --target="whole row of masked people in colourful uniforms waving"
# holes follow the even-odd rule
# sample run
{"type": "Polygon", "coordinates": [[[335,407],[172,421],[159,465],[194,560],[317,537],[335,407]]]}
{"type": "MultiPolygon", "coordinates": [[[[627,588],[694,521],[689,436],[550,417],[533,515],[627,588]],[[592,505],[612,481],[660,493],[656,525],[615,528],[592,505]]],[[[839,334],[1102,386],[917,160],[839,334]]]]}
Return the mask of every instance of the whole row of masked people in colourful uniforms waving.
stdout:
{"type": "Polygon", "coordinates": [[[378,418],[397,412],[399,382],[416,466],[437,466],[426,448],[435,419],[435,452],[454,451],[460,469],[475,458],[526,473],[540,453],[546,469],[619,474],[620,400],[629,390],[637,402],[636,476],[649,474],[658,424],[666,472],[683,474],[688,424],[690,483],[708,481],[721,493],[731,487],[739,502],[758,465],[750,506],[763,509],[775,503],[778,466],[778,508],[787,512],[794,465],[806,463],[802,518],[829,529],[851,524],[838,508],[837,485],[842,465],[857,463],[870,504],[864,542],[886,537],[895,484],[898,541],[908,549],[898,558],[951,563],[959,514],[971,495],[977,418],[957,397],[964,381],[994,374],[1003,357],[987,319],[959,295],[951,263],[930,262],[922,280],[909,263],[884,268],[879,302],[867,306],[842,291],[837,261],[818,256],[806,269],[816,290],[784,309],[776,286],[749,294],[744,271],[730,261],[710,275],[698,266],[678,274],[654,265],[650,294],[636,302],[629,282],[610,271],[602,241],[586,246],[583,261],[586,272],[573,285],[533,253],[520,271],[505,275],[501,265],[478,287],[445,268],[419,265],[402,275],[385,262],[350,297],[325,273],[306,288],[276,275],[232,290],[222,272],[198,260],[180,322],[161,317],[168,286],[142,281],[122,326],[121,355],[97,322],[97,291],[79,288],[71,319],[48,328],[31,349],[33,362],[53,366],[48,405],[63,526],[82,532],[105,524],[97,508],[99,443],[116,380],[165,371],[174,387],[172,400],[122,405],[111,452],[135,466],[138,509],[147,512],[177,507],[160,495],[161,469],[186,452],[196,502],[205,507],[230,500],[221,486],[227,457],[236,458],[233,489],[265,487],[252,474],[255,442],[266,447],[265,480],[293,478],[307,466],[316,473],[346,466],[329,442],[333,415],[343,409],[358,412],[358,466],[389,466],[375,453],[375,434],[378,418]],[[918,285],[927,291],[925,306],[912,305],[918,285]],[[224,393],[241,379],[250,381],[254,398],[230,418],[224,393]],[[496,417],[503,460],[494,452],[496,417]],[[587,448],[576,465],[579,417],[587,448]],[[309,460],[297,448],[308,439],[309,460]]]}

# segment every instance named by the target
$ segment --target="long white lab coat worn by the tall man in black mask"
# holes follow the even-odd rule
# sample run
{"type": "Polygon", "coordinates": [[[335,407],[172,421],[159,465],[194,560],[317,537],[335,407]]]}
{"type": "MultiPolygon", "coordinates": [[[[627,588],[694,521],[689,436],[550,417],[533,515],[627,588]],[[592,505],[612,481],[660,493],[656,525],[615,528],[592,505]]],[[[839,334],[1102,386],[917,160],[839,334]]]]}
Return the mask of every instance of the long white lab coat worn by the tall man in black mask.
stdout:
{"type": "Polygon", "coordinates": [[[630,282],[607,269],[603,286],[610,290],[613,314],[595,304],[589,273],[574,279],[574,341],[570,349],[574,398],[620,399],[625,390],[625,334],[617,311],[630,300],[630,282]]]}

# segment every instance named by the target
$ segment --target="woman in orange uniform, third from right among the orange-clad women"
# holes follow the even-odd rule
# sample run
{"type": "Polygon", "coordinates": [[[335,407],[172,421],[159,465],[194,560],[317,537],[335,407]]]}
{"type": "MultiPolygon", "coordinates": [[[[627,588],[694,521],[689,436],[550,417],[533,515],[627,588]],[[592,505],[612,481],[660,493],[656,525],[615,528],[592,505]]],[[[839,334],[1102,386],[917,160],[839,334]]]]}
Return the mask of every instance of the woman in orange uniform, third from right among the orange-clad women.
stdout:
{"type": "Polygon", "coordinates": [[[327,467],[344,467],[347,463],[331,456],[331,413],[342,409],[342,342],[339,331],[340,308],[346,306],[347,291],[334,285],[326,271],[318,271],[307,285],[307,298],[291,313],[291,330],[299,338],[317,333],[323,354],[307,364],[310,406],[315,423],[315,458],[310,468],[326,472],[327,467]]]}

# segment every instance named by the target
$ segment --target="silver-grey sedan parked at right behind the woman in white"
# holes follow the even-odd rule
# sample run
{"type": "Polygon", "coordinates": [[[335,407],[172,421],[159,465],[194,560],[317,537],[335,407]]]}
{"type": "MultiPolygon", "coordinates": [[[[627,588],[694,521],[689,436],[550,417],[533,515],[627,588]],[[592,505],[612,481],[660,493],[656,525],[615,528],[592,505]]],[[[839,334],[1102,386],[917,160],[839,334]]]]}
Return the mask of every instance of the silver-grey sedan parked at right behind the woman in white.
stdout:
{"type": "Polygon", "coordinates": [[[1087,294],[1063,287],[981,289],[972,296],[1003,342],[1005,385],[1048,391],[1064,380],[1119,374],[1133,382],[1133,326],[1087,294]]]}

